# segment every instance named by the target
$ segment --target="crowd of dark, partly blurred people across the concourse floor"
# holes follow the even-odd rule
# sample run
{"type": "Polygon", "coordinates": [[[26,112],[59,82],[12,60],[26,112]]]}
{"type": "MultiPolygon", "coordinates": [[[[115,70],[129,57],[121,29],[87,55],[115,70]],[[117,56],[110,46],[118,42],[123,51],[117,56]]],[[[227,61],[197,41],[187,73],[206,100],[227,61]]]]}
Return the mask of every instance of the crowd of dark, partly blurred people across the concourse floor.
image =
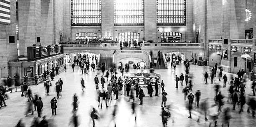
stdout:
{"type": "MultiPolygon", "coordinates": [[[[74,63],[71,65],[73,68],[74,72],[74,67],[81,68],[82,73],[88,74],[89,70],[94,71],[95,65],[94,64],[94,58],[95,60],[98,60],[95,57],[86,57],[86,58],[81,58],[79,56],[78,59],[74,59],[74,63]],[[85,59],[85,60],[84,60],[85,59]],[[89,59],[91,59],[93,62],[91,63],[89,59]],[[78,62],[77,62],[78,60],[78,62]],[[85,66],[85,71],[84,71],[84,66],[85,66]],[[88,67],[88,68],[87,68],[88,67]]],[[[179,61],[179,64],[181,64],[180,57],[177,57],[177,60],[179,61]]],[[[192,61],[196,61],[192,60],[192,61]]],[[[170,62],[170,56],[167,57],[167,62],[170,62]]],[[[96,62],[97,65],[98,62],[96,62]]],[[[170,62],[171,64],[171,69],[174,71],[176,70],[176,62],[170,62]]],[[[243,70],[239,70],[237,73],[237,77],[233,77],[232,75],[223,75],[223,68],[221,66],[218,66],[217,62],[215,63],[214,67],[208,71],[203,72],[203,77],[204,77],[204,84],[208,85],[208,79],[210,79],[211,84],[214,85],[214,90],[215,90],[215,95],[213,95],[214,98],[214,104],[210,105],[210,99],[209,98],[202,98],[204,95],[201,93],[201,90],[196,90],[195,93],[193,93],[193,86],[195,85],[193,81],[193,75],[190,72],[190,61],[185,60],[183,62],[185,70],[184,73],[180,73],[180,75],[175,75],[174,79],[175,80],[175,88],[178,90],[179,86],[182,87],[180,90],[184,94],[184,100],[187,103],[185,105],[186,109],[188,110],[188,118],[192,119],[192,117],[196,117],[197,122],[200,121],[200,117],[204,116],[205,121],[209,122],[209,127],[213,124],[215,127],[218,126],[218,119],[221,116],[223,117],[222,120],[222,126],[227,124],[228,127],[230,126],[230,120],[232,119],[231,116],[231,108],[233,107],[233,110],[236,110],[238,107],[238,113],[243,112],[243,107],[244,105],[248,105],[247,112],[252,112],[252,117],[255,117],[255,110],[256,110],[256,99],[255,97],[255,90],[256,90],[256,82],[253,81],[251,85],[251,89],[253,91],[253,96],[250,94],[245,93],[245,88],[246,84],[246,78],[244,77],[245,72],[243,70]],[[185,84],[184,84],[185,80],[185,84]],[[223,88],[226,86],[228,88],[229,95],[228,97],[225,97],[222,94],[221,91],[221,82],[223,82],[223,88]],[[228,83],[227,83],[228,82],[228,83]],[[226,98],[226,99],[225,99],[226,98]],[[227,100],[228,103],[226,103],[225,100],[227,100]],[[223,105],[228,105],[223,108],[223,105]],[[237,106],[239,105],[239,106],[237,106]],[[197,112],[197,113],[195,113],[197,112]]],[[[137,65],[135,65],[137,67],[137,65]]],[[[134,68],[135,68],[134,66],[134,68]]],[[[58,67],[58,66],[56,66],[58,67]]],[[[49,91],[52,86],[52,82],[56,75],[58,75],[58,68],[52,69],[51,73],[45,72],[44,77],[46,78],[46,81],[43,83],[45,87],[45,95],[49,96],[49,91]],[[47,77],[51,77],[51,80],[48,80],[47,77]]],[[[128,97],[127,103],[131,105],[131,110],[132,110],[132,115],[134,116],[134,120],[137,120],[137,113],[136,113],[136,101],[139,100],[139,105],[143,105],[143,98],[145,97],[145,94],[148,94],[149,97],[153,97],[153,93],[155,93],[155,97],[161,95],[162,96],[162,103],[161,103],[161,110],[162,112],[160,113],[160,116],[162,117],[162,125],[163,127],[167,126],[167,122],[170,118],[172,118],[172,123],[175,122],[174,119],[174,109],[175,105],[173,103],[167,103],[168,100],[168,90],[165,89],[165,83],[163,80],[155,80],[154,82],[148,81],[146,82],[147,86],[147,93],[144,93],[142,90],[142,87],[139,85],[139,82],[135,80],[124,80],[122,76],[117,76],[117,70],[119,70],[122,73],[123,72],[129,72],[129,65],[125,64],[123,65],[122,62],[120,63],[119,68],[116,67],[115,64],[113,64],[112,68],[110,70],[105,71],[105,64],[103,63],[101,65],[101,73],[98,75],[95,75],[94,77],[94,84],[95,84],[95,89],[97,91],[97,101],[98,101],[98,108],[102,109],[103,106],[105,105],[106,108],[109,107],[109,101],[114,98],[114,100],[119,100],[119,97],[124,95],[128,97]],[[124,66],[124,67],[123,67],[124,66]],[[110,75],[110,79],[108,79],[110,75]],[[109,81],[109,83],[107,83],[109,81]],[[101,85],[99,85],[99,83],[101,85]],[[105,85],[107,83],[107,85],[105,85]],[[158,90],[158,85],[160,84],[160,90],[158,90]],[[158,92],[159,91],[159,92],[158,92]],[[136,99],[138,98],[138,99],[136,99]]],[[[65,69],[66,72],[66,69],[65,69]]],[[[253,70],[251,71],[250,74],[253,74],[253,70]]],[[[37,76],[37,75],[35,75],[37,76]]],[[[252,79],[252,77],[251,77],[252,79]]],[[[172,79],[170,79],[172,80],[172,79]]],[[[253,80],[253,79],[252,79],[253,80]]],[[[38,85],[36,82],[35,85],[38,85]]],[[[57,103],[61,100],[58,100],[60,97],[62,97],[62,87],[63,87],[63,80],[59,78],[58,81],[55,82],[54,89],[56,91],[56,97],[53,97],[49,104],[51,105],[51,111],[52,115],[57,115],[57,103]]],[[[84,82],[84,79],[81,78],[81,87],[82,91],[85,90],[86,84],[84,82]]],[[[27,85],[26,82],[22,82],[20,84],[21,88],[21,97],[26,97],[27,98],[27,109],[25,116],[28,116],[28,114],[31,113],[31,115],[34,114],[34,111],[37,111],[38,117],[34,117],[33,121],[31,123],[31,127],[48,127],[48,125],[51,124],[51,120],[46,119],[46,115],[44,115],[41,119],[42,115],[42,109],[43,109],[43,102],[42,102],[42,97],[38,97],[37,94],[33,95],[33,92],[30,88],[30,86],[27,85]]],[[[5,103],[5,99],[8,98],[8,95],[5,92],[5,88],[3,86],[0,87],[0,106],[3,107],[7,106],[5,103]]],[[[170,100],[170,99],[169,99],[170,100]]],[[[80,125],[80,120],[79,116],[77,115],[77,110],[79,107],[78,103],[78,97],[76,94],[73,96],[73,112],[72,112],[72,117],[69,122],[69,125],[72,125],[73,127],[78,127],[80,125]]],[[[160,107],[160,104],[159,104],[160,107]]],[[[117,126],[116,122],[116,115],[117,115],[117,109],[119,108],[118,104],[114,105],[112,112],[112,121],[114,122],[115,127],[117,126]]],[[[99,111],[96,110],[96,108],[91,109],[90,113],[91,121],[92,121],[92,126],[95,127],[96,125],[96,120],[100,119],[99,111]]],[[[18,121],[18,124],[16,127],[25,127],[25,124],[23,122],[23,119],[20,119],[18,121]]]]}

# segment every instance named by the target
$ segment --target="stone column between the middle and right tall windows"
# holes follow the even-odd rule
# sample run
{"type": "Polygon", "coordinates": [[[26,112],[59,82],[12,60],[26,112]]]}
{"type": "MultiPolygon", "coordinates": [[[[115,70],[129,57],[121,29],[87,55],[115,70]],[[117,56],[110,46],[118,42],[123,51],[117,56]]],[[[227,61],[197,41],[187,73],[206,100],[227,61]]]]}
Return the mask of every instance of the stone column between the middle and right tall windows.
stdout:
{"type": "Polygon", "coordinates": [[[157,42],[157,2],[144,0],[144,40],[157,42]]]}

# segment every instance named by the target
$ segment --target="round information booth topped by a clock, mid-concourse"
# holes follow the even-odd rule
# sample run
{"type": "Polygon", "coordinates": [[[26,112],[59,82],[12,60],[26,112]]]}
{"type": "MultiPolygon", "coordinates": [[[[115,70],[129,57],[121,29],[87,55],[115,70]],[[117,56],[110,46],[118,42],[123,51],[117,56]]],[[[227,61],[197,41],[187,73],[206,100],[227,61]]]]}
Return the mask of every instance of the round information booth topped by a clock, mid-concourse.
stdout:
{"type": "MultiPolygon", "coordinates": [[[[157,73],[148,73],[146,70],[144,70],[144,67],[146,65],[146,62],[144,60],[141,60],[139,62],[139,67],[141,68],[138,70],[136,73],[127,73],[124,74],[124,83],[125,85],[127,82],[134,80],[136,83],[139,84],[143,92],[145,93],[145,96],[149,96],[147,94],[147,82],[151,82],[152,87],[153,87],[153,94],[155,95],[155,82],[158,84],[158,95],[161,93],[162,90],[161,88],[161,76],[160,74],[157,73]]],[[[126,89],[126,86],[124,85],[124,90],[126,89]]],[[[132,88],[135,86],[135,84],[131,84],[132,88]]]]}

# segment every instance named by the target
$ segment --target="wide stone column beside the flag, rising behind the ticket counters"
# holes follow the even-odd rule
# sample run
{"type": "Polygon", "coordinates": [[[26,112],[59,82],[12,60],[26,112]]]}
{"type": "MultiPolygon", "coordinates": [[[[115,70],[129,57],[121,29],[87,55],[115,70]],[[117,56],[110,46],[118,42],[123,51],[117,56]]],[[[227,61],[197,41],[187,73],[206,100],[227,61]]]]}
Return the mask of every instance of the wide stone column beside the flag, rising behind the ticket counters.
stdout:
{"type": "Polygon", "coordinates": [[[20,55],[27,56],[27,47],[37,43],[41,34],[41,0],[19,0],[20,55]]]}

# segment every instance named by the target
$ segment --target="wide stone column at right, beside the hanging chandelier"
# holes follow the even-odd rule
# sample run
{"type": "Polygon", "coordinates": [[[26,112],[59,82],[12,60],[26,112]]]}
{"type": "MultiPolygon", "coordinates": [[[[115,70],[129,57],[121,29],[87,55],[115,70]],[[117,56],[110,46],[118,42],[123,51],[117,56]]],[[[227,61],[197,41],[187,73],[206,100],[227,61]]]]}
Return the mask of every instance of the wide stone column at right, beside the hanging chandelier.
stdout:
{"type": "MultiPolygon", "coordinates": [[[[223,3],[223,48],[228,50],[228,59],[221,60],[225,72],[231,72],[231,39],[244,39],[245,37],[245,0],[226,0],[223,3]],[[224,40],[228,44],[224,44],[224,40]]],[[[222,54],[223,55],[223,54],[222,54]]]]}

